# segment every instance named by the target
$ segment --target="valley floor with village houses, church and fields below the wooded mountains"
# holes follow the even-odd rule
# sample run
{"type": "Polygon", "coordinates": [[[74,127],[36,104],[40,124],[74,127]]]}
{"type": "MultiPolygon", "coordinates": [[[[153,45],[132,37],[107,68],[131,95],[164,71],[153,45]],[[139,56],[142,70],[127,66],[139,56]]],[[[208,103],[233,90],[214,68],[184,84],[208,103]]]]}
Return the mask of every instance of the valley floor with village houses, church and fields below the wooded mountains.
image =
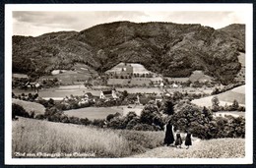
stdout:
{"type": "MultiPolygon", "coordinates": [[[[124,116],[129,112],[140,115],[149,102],[160,104],[169,98],[192,101],[210,96],[216,88],[224,86],[202,71],[194,71],[189,78],[164,78],[135,63],[119,63],[101,76],[83,64],[69,71],[53,70],[50,76],[35,81],[27,75],[13,74],[13,98],[30,100],[30,95],[36,93],[34,101],[53,100],[64,111],[80,109],[78,115],[71,113],[75,116],[91,106],[118,107],[115,111],[124,116]]],[[[207,104],[211,106],[212,102],[207,104]]]]}

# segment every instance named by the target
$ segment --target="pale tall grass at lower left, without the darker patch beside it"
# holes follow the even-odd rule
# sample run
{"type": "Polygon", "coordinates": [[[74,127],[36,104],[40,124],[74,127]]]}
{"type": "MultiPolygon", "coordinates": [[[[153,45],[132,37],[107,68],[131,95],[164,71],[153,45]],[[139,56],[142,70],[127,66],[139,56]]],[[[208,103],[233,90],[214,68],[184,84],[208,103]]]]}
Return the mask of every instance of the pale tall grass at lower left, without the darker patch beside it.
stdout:
{"type": "Polygon", "coordinates": [[[14,152],[95,153],[96,157],[128,155],[128,140],[110,130],[21,119],[13,122],[14,152]]]}

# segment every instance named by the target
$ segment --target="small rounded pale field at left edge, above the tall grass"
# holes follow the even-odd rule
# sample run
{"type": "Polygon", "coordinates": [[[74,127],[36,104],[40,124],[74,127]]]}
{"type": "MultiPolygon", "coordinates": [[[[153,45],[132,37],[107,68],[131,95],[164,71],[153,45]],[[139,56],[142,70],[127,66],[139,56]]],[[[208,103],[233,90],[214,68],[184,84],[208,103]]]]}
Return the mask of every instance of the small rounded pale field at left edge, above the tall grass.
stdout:
{"type": "Polygon", "coordinates": [[[35,115],[44,114],[45,112],[45,107],[39,103],[24,101],[24,100],[15,99],[15,98],[12,98],[12,103],[23,106],[23,108],[30,114],[32,113],[32,111],[34,112],[35,115]]]}

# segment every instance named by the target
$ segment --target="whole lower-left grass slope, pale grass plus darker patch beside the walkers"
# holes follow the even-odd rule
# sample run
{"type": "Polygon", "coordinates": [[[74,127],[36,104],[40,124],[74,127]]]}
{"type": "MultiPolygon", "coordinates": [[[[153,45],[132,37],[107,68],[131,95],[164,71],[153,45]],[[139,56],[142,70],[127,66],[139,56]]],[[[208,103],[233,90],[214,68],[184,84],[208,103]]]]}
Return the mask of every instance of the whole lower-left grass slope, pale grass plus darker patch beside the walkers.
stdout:
{"type": "Polygon", "coordinates": [[[160,146],[163,132],[113,131],[19,118],[13,121],[12,138],[13,157],[124,157],[160,146]]]}

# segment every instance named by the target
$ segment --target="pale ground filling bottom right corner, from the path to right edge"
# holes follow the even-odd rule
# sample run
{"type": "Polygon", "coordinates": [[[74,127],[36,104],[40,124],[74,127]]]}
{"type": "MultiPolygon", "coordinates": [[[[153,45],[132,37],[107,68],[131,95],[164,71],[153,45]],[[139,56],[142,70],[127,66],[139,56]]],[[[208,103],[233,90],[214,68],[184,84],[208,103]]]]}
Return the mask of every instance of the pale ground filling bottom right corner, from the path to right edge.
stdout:
{"type": "Polygon", "coordinates": [[[134,158],[242,158],[245,156],[244,139],[216,139],[192,141],[192,146],[186,149],[173,146],[161,146],[134,158]]]}

